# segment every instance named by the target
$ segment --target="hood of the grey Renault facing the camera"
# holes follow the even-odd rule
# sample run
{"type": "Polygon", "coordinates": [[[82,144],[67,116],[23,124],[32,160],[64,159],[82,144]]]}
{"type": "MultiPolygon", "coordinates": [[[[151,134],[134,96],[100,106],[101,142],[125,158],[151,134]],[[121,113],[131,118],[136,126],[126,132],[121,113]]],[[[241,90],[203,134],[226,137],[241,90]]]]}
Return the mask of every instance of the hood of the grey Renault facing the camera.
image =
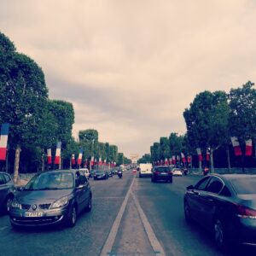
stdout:
{"type": "Polygon", "coordinates": [[[60,199],[63,196],[70,195],[73,189],[56,189],[56,190],[34,190],[34,191],[20,191],[15,195],[17,201],[22,203],[49,203],[60,199]]]}

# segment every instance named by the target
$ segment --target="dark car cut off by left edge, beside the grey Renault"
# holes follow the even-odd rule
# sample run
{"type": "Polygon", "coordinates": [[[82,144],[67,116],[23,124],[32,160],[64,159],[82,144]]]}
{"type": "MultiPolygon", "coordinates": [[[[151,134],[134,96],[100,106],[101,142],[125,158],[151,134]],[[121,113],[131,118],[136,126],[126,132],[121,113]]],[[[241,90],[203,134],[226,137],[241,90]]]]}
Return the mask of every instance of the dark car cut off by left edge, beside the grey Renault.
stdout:
{"type": "Polygon", "coordinates": [[[9,205],[15,197],[15,184],[6,172],[0,172],[0,212],[9,212],[9,205]]]}

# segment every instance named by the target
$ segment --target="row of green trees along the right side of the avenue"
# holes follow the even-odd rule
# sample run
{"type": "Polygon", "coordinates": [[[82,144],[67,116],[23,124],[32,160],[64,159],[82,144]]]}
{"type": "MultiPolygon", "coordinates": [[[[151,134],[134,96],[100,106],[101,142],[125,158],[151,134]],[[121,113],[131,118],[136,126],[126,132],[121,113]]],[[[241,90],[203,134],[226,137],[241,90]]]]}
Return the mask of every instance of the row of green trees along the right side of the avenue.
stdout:
{"type": "MultiPolygon", "coordinates": [[[[255,166],[254,154],[245,156],[245,142],[256,139],[256,90],[248,81],[240,88],[224,91],[203,91],[195,96],[189,108],[183,112],[187,131],[178,136],[172,132],[170,137],[160,137],[159,143],[150,147],[150,159],[165,160],[172,155],[193,155],[193,162],[201,168],[201,161],[196,156],[196,148],[201,148],[203,155],[210,152],[210,166],[214,171],[217,166],[228,167],[255,166]],[[232,148],[230,137],[237,137],[243,154],[237,158],[232,148]]],[[[145,157],[144,155],[143,157],[145,157]]],[[[143,160],[143,159],[141,159],[143,160]]]]}

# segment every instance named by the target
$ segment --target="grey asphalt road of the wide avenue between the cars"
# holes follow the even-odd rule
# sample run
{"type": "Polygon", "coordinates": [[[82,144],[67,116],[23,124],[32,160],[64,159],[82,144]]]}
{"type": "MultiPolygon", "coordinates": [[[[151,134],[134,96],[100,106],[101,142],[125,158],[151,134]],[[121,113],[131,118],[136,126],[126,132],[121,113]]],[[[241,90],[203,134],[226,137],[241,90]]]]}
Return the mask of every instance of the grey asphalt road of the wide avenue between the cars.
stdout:
{"type": "Polygon", "coordinates": [[[0,216],[0,255],[256,255],[252,247],[220,253],[211,234],[185,223],[184,188],[198,179],[151,183],[126,172],[122,179],[90,180],[92,211],[73,228],[16,231],[0,216]]]}

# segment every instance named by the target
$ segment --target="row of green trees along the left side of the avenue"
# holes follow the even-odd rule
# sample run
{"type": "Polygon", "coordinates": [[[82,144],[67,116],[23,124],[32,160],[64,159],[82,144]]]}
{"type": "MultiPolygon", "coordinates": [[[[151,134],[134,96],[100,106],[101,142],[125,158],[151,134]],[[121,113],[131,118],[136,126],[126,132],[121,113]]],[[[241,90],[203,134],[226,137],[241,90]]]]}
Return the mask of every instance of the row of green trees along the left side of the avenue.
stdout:
{"type": "Polygon", "coordinates": [[[71,154],[84,149],[84,159],[91,156],[125,163],[118,147],[98,142],[96,130],[79,131],[79,142],[72,137],[73,104],[51,100],[41,67],[20,54],[9,38],[0,32],[0,124],[9,123],[8,158],[0,169],[12,170],[15,179],[21,172],[44,169],[46,149],[61,141],[61,160],[70,166],[71,154]],[[22,157],[20,157],[20,154],[22,157]],[[9,160],[9,161],[8,161],[9,160]]]}

